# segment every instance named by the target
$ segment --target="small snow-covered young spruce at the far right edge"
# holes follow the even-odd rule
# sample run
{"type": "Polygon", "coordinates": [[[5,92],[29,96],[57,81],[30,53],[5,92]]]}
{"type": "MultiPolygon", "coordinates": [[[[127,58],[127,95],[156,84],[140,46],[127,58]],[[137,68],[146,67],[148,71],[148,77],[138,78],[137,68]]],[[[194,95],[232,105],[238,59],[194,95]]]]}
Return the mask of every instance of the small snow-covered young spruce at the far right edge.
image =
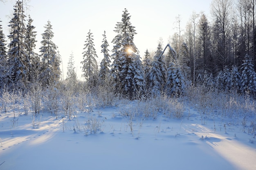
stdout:
{"type": "Polygon", "coordinates": [[[256,91],[256,73],[252,58],[246,54],[241,67],[241,91],[255,92],[256,91]]]}

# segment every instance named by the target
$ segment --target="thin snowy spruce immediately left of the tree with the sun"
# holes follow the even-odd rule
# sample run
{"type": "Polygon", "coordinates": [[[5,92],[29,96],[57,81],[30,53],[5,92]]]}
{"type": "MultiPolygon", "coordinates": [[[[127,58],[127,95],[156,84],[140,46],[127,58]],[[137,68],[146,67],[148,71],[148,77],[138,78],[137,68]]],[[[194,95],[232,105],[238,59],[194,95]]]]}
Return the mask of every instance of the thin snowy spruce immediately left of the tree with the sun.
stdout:
{"type": "Polygon", "coordinates": [[[101,45],[101,52],[103,53],[103,59],[100,63],[99,69],[99,84],[104,85],[109,82],[109,74],[110,74],[110,55],[108,50],[108,41],[106,37],[106,31],[103,34],[103,44],[101,45]]]}

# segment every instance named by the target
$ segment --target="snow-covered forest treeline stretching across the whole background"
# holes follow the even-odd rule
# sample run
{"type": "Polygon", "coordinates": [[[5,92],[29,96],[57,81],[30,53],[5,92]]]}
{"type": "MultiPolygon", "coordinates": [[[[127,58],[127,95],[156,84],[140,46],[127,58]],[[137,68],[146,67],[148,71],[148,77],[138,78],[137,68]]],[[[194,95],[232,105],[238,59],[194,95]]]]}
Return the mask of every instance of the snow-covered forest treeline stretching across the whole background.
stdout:
{"type": "Polygon", "coordinates": [[[214,22],[210,23],[203,13],[193,13],[184,32],[180,28],[181,19],[177,17],[179,32],[170,39],[173,48],[166,46],[168,51],[164,53],[163,44],[159,42],[156,52],[150,54],[146,50],[143,61],[133,42],[137,34],[135,26],[125,9],[121,22],[115,26],[117,35],[112,39],[111,52],[106,32],[103,33],[101,52],[104,57],[99,66],[93,33],[88,32],[81,61],[85,82],[81,83],[76,78],[73,54],[68,62],[67,78],[60,81],[60,55],[52,41],[54,33],[49,21],[40,41],[40,54],[34,52],[36,31],[33,20],[29,16],[25,24],[22,2],[17,1],[9,25],[8,45],[0,26],[0,86],[24,94],[35,85],[43,89],[80,86],[77,89],[104,89],[104,92],[130,100],[163,93],[180,96],[188,85],[254,93],[254,4],[254,0],[238,0],[234,7],[231,0],[213,0],[214,22]]]}

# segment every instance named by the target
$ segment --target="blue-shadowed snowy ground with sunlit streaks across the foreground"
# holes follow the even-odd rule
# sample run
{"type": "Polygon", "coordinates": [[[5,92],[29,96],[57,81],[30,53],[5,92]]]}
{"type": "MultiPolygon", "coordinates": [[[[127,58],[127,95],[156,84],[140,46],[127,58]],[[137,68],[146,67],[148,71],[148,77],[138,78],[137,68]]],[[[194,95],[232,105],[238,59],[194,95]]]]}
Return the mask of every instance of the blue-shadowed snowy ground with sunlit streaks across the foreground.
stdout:
{"type": "Polygon", "coordinates": [[[130,120],[121,109],[79,111],[71,120],[45,111],[35,128],[32,113],[16,111],[15,119],[12,110],[0,113],[0,170],[256,169],[255,135],[243,131],[239,119],[202,124],[199,113],[186,108],[180,119],[130,120]],[[99,126],[95,134],[89,119],[99,126]]]}

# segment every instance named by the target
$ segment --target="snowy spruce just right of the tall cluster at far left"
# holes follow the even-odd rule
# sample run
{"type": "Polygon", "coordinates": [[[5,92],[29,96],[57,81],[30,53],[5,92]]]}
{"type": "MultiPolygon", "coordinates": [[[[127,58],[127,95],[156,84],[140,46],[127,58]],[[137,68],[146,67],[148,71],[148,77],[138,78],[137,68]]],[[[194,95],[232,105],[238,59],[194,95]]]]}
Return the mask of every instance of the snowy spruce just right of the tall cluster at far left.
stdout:
{"type": "Polygon", "coordinates": [[[40,57],[42,57],[39,79],[43,87],[54,87],[57,85],[61,77],[61,60],[56,52],[57,46],[52,41],[54,33],[52,32],[52,25],[50,21],[47,21],[45,28],[46,30],[42,34],[42,46],[39,48],[39,52],[41,53],[40,57]]]}

